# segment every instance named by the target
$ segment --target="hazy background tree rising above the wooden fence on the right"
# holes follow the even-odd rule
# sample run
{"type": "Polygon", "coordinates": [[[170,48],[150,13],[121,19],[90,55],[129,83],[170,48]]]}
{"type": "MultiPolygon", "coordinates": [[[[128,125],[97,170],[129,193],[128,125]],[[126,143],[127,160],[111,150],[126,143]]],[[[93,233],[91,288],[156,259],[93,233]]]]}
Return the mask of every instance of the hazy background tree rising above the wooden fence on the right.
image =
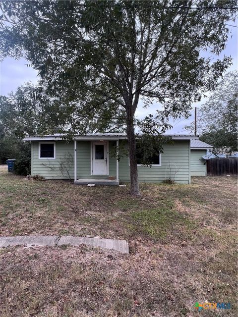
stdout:
{"type": "MultiPolygon", "coordinates": [[[[200,140],[213,145],[214,154],[238,150],[238,71],[228,72],[198,109],[200,140]]],[[[193,131],[194,122],[186,127],[193,131]]]]}

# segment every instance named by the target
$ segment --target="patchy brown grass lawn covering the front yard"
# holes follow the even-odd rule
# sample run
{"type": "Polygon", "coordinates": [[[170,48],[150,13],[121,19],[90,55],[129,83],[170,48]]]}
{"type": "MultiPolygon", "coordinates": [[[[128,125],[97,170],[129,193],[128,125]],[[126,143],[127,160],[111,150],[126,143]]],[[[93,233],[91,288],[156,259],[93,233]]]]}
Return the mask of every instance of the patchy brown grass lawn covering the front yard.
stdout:
{"type": "Polygon", "coordinates": [[[85,246],[0,250],[0,316],[237,316],[237,180],[128,188],[26,181],[0,167],[0,234],[121,238],[130,254],[85,246]],[[196,301],[230,302],[196,312],[196,301]],[[204,315],[205,314],[205,315],[204,315]]]}

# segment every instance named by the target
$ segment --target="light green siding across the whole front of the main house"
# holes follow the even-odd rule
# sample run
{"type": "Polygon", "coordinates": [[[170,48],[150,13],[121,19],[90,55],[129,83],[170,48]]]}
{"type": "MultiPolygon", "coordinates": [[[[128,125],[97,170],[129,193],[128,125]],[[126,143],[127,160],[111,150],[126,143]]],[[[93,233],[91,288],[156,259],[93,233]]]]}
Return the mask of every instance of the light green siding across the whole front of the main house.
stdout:
{"type": "MultiPolygon", "coordinates": [[[[116,176],[114,146],[116,146],[116,141],[109,141],[109,176],[116,176]]],[[[49,179],[67,178],[66,173],[62,175],[60,172],[60,161],[65,159],[68,154],[74,159],[73,142],[56,141],[56,159],[39,159],[39,142],[32,143],[32,150],[32,175],[40,174],[49,179]]],[[[190,141],[177,140],[173,144],[166,144],[163,151],[161,166],[138,166],[139,182],[160,183],[171,177],[178,183],[189,184],[190,141]]],[[[69,173],[73,179],[73,164],[69,168],[69,173]]],[[[108,178],[108,175],[91,175],[90,141],[77,141],[77,179],[79,178],[108,178]]],[[[130,181],[129,160],[126,155],[119,160],[119,180],[121,182],[130,181]]]]}

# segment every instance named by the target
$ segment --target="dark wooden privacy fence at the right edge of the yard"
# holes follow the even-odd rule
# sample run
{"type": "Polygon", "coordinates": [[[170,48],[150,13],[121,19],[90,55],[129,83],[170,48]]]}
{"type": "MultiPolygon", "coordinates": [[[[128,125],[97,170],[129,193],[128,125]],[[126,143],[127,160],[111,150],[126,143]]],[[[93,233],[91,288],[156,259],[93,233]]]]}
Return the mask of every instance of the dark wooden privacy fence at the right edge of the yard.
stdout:
{"type": "Polygon", "coordinates": [[[238,175],[238,158],[208,159],[206,164],[209,176],[238,175]]]}

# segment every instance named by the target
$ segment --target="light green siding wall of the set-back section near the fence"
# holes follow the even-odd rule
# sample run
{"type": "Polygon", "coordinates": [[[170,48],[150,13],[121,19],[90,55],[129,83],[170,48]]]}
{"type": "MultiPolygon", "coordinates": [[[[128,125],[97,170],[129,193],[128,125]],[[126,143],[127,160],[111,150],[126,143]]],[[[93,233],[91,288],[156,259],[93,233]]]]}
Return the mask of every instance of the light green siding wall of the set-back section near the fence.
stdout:
{"type": "Polygon", "coordinates": [[[207,175],[207,166],[202,159],[206,153],[207,150],[191,150],[191,176],[207,175]]]}

